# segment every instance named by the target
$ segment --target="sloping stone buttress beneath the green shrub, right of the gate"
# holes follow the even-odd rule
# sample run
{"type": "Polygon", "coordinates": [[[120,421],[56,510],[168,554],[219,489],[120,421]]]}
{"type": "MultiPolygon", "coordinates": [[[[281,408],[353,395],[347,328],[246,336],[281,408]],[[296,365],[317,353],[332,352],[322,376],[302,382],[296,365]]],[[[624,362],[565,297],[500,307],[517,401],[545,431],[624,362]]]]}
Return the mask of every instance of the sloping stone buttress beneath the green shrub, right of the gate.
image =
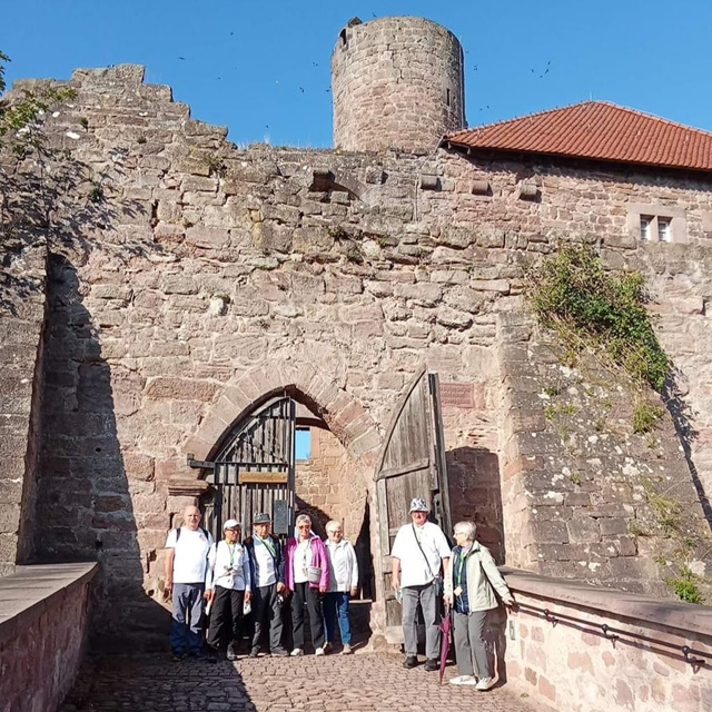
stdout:
{"type": "Polygon", "coordinates": [[[672,416],[635,434],[620,374],[592,357],[563,365],[527,315],[502,335],[507,563],[663,597],[683,566],[709,572],[709,524],[672,416]]]}

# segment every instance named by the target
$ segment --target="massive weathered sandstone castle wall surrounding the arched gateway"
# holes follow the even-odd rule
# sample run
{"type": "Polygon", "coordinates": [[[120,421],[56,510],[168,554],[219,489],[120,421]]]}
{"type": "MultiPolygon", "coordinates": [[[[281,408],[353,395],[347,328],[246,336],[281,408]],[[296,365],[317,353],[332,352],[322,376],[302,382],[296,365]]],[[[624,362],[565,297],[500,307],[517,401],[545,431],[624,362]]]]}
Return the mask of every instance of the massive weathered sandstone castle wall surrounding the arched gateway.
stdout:
{"type": "MultiPolygon", "coordinates": [[[[354,465],[352,501],[375,512],[380,438],[423,363],[473,394],[444,403],[455,520],[475,518],[501,560],[605,583],[624,568],[660,593],[647,543],[630,531],[645,494],[625,457],[652,468],[661,453],[691,507],[692,481],[668,445],[643,453],[622,434],[570,448],[546,429],[538,394],[554,376],[577,390],[577,434],[595,434],[600,416],[574,382],[589,384],[586,374],[568,385],[553,360],[540,363],[521,267],[561,239],[595,239],[611,267],[650,277],[695,412],[689,457],[709,491],[706,180],[447,150],[238,150],[169,88],[141,80],[134,66],[77,70],[77,97],[48,118],[77,181],[55,215],[63,239],[50,260],[34,545],[41,560],[102,563],[100,631],[146,642],[156,630],[167,530],[202,491],[187,454],[207,458],[269,393],[318,406],[354,465]],[[535,199],[522,197],[523,182],[535,199]],[[686,244],[639,243],[633,204],[683,211],[686,244]],[[90,207],[80,222],[79,206],[90,207]]],[[[662,428],[656,437],[672,444],[671,422],[662,428]]],[[[666,532],[647,534],[664,550],[666,532]]]]}

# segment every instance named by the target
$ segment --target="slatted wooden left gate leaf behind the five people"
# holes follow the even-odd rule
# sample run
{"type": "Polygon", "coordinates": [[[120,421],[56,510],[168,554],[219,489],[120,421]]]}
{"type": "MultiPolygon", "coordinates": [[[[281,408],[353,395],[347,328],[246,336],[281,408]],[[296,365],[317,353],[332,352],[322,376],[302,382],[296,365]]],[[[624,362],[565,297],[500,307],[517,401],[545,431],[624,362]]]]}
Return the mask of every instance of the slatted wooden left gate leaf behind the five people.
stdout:
{"type": "Polygon", "coordinates": [[[222,522],[235,518],[243,534],[251,531],[257,512],[268,512],[273,530],[287,534],[295,507],[296,403],[289,396],[268,400],[238,423],[206,477],[212,498],[206,502],[205,524],[222,537],[222,522]]]}

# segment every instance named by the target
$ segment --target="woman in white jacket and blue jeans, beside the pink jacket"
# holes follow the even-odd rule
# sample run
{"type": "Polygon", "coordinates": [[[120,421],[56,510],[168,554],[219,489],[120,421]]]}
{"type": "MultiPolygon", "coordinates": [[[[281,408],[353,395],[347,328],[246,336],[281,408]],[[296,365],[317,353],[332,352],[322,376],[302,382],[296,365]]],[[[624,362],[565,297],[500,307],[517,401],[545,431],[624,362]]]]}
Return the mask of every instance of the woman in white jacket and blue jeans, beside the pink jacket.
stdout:
{"type": "Polygon", "coordinates": [[[326,624],[326,644],[324,652],[333,647],[335,625],[338,614],[338,629],[342,634],[344,655],[352,653],[352,629],[348,621],[348,599],[358,592],[358,563],[356,552],[344,538],[339,522],[332,520],[326,524],[328,538],[325,541],[329,558],[329,587],[324,596],[324,622],[326,624]]]}

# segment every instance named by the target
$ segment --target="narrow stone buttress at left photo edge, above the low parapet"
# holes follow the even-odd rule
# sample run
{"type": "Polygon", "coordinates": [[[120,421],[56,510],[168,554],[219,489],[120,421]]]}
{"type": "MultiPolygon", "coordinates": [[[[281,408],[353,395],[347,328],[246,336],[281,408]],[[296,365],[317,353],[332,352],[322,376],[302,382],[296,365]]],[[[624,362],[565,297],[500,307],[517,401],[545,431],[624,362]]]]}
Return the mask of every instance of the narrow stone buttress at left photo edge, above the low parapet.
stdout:
{"type": "Polygon", "coordinates": [[[47,250],[0,243],[0,575],[31,555],[47,250]]]}

